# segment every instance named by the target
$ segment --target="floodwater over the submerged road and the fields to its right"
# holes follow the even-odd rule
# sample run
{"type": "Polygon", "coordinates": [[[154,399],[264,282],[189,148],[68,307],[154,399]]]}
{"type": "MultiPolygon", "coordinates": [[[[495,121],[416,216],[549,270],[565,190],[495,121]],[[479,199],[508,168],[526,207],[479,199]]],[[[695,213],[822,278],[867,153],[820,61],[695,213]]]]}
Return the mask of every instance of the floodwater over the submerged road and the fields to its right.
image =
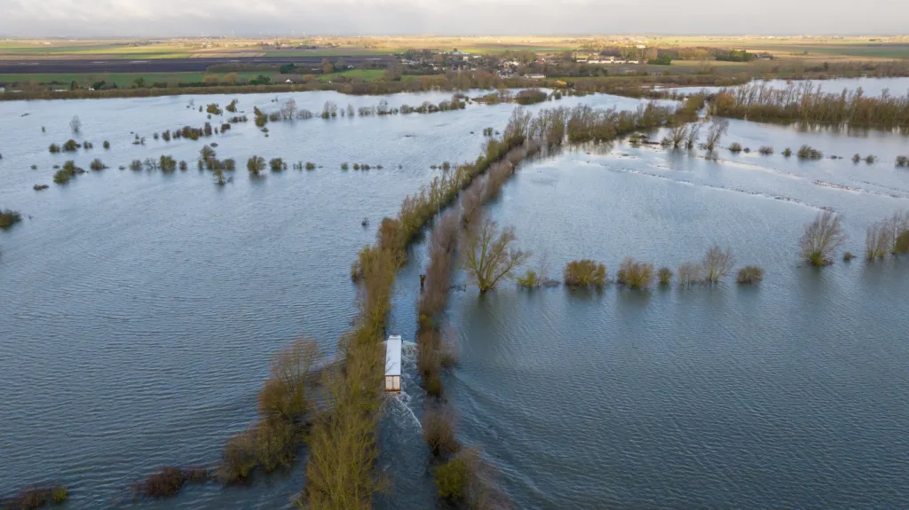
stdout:
{"type": "MultiPolygon", "coordinates": [[[[658,140],[661,133],[654,133],[658,140]]],[[[723,145],[627,142],[531,163],[490,211],[559,278],[564,263],[625,256],[675,270],[714,243],[759,285],[602,292],[454,292],[461,361],[445,379],[460,436],[517,508],[903,508],[909,501],[909,260],[866,263],[864,230],[909,209],[904,138],[733,121],[723,145]],[[800,162],[803,143],[846,156],[800,162]],[[756,148],[774,146],[774,155],[756,148]],[[856,165],[854,152],[880,162],[856,165]],[[843,214],[851,263],[797,259],[806,222],[843,214]]],[[[399,277],[415,289],[425,246],[399,277]]],[[[459,274],[457,281],[464,281],[459,274]]],[[[415,297],[393,326],[413,335],[415,297]]],[[[410,378],[415,378],[411,367],[410,378]]],[[[401,400],[416,416],[423,393],[401,400]]],[[[397,407],[400,409],[400,407],[397,407]]],[[[398,410],[394,507],[433,503],[419,429],[398,410]],[[407,448],[412,448],[408,456],[407,448]],[[405,479],[405,481],[401,481],[405,479]],[[414,482],[413,480],[422,480],[414,482]],[[427,488],[428,486],[428,488],[427,488]]],[[[393,455],[393,454],[386,454],[393,455]]],[[[392,464],[390,462],[390,464],[392,464]]]]}

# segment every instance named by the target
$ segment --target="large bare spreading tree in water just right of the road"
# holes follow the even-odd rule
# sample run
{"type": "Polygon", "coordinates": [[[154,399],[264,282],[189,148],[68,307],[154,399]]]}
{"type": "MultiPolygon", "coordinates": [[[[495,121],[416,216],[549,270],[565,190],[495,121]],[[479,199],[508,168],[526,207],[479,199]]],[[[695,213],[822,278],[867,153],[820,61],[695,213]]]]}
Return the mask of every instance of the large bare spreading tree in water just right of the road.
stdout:
{"type": "Polygon", "coordinates": [[[514,278],[514,270],[530,258],[530,252],[512,248],[515,240],[514,227],[500,231],[488,217],[467,229],[462,267],[481,293],[495,289],[499,280],[514,278]]]}

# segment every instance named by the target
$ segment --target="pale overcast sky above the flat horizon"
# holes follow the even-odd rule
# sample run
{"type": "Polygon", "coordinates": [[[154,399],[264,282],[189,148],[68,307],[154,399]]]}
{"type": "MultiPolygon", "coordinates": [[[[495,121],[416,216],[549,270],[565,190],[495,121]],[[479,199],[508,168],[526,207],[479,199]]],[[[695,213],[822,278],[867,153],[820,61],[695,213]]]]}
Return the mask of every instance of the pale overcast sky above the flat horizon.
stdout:
{"type": "Polygon", "coordinates": [[[900,34],[909,0],[0,0],[3,36],[900,34]]]}

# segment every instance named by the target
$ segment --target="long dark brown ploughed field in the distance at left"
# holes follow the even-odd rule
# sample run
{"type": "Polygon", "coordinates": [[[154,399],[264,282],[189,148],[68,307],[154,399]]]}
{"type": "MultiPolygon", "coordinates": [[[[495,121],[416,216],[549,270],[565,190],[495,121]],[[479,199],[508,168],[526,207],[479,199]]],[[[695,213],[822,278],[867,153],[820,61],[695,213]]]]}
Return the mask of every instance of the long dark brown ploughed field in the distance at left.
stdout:
{"type": "MultiPolygon", "coordinates": [[[[323,56],[254,56],[161,58],[148,60],[0,60],[0,74],[97,74],[97,73],[201,73],[211,65],[223,64],[296,64],[316,67],[323,56]]],[[[335,62],[343,58],[355,67],[393,62],[392,55],[337,55],[327,57],[335,62]]]]}

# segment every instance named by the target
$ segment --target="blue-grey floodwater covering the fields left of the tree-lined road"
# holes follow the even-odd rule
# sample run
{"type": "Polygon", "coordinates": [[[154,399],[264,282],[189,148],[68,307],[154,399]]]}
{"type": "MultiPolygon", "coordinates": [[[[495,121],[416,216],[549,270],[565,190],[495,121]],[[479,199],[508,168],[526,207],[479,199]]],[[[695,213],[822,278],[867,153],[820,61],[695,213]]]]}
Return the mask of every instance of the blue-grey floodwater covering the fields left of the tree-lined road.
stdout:
{"type": "MultiPolygon", "coordinates": [[[[59,482],[71,508],[275,508],[300,490],[302,463],[257,476],[252,487],[192,486],[158,503],[132,502],[130,485],[159,466],[215,463],[227,437],[255,419],[268,359],[292,338],[315,338],[334,353],[355,317],[356,252],[407,193],[439,173],[431,165],[473,161],[483,129],[504,128],[513,106],[269,123],[266,138],[252,111],[274,111],[275,97],[237,96],[249,123],[169,143],[153,133],[201,126],[199,105],[224,107],[233,97],[0,103],[0,208],[24,218],[0,231],[0,496],[59,482]],[[82,121],[77,138],[95,148],[50,154],[50,143],[72,136],[73,115],[82,121]],[[133,144],[134,132],[145,145],[133,144]],[[195,170],[205,142],[238,163],[223,188],[195,170]],[[161,154],[190,170],[118,170],[161,154]],[[320,168],[250,179],[244,163],[254,154],[320,168]],[[94,158],[110,168],[53,183],[54,164],[75,159],[88,169],[94,158]],[[374,169],[342,172],[342,162],[374,169]],[[50,189],[33,191],[41,183],[50,189]]],[[[277,97],[312,111],[327,100],[359,107],[382,99],[277,97]]],[[[396,107],[449,97],[386,99],[396,107]]],[[[597,95],[559,104],[581,101],[639,103],[597,95]]]]}

